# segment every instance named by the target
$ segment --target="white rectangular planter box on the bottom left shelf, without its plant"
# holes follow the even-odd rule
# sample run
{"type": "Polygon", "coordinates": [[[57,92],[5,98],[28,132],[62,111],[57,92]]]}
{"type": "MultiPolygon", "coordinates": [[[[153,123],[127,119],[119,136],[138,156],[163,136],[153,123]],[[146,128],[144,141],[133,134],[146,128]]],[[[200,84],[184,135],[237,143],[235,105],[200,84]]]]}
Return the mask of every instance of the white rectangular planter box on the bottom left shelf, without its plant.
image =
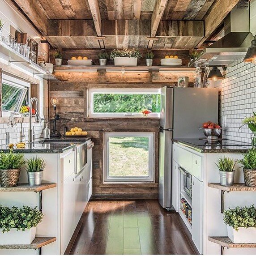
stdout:
{"type": "Polygon", "coordinates": [[[35,239],[36,227],[26,229],[25,231],[11,228],[9,232],[2,232],[0,229],[0,244],[30,244],[35,239]]]}

